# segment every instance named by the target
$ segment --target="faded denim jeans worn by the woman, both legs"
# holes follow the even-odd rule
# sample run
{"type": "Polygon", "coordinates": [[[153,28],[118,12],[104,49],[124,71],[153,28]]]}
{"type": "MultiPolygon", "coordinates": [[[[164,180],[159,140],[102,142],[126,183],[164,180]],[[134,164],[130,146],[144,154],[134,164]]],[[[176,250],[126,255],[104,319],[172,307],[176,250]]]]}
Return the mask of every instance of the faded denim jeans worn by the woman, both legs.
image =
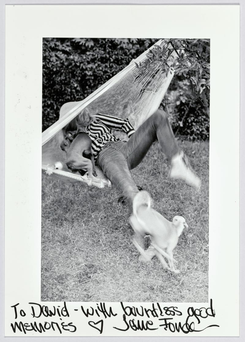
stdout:
{"type": "Polygon", "coordinates": [[[139,189],[129,170],[139,165],[155,140],[168,160],[179,152],[168,116],[161,109],[142,123],[127,142],[114,142],[98,155],[99,166],[130,207],[139,189]]]}

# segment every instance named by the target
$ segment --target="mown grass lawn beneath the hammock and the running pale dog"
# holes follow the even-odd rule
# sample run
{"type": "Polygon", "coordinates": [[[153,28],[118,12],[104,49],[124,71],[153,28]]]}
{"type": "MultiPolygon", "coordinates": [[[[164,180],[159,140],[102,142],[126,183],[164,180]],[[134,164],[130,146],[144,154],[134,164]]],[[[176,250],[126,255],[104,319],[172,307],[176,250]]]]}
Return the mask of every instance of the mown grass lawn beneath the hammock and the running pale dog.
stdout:
{"type": "MultiPolygon", "coordinates": [[[[178,141],[202,179],[200,193],[168,179],[169,166],[155,143],[132,170],[136,184],[165,218],[184,216],[174,274],[154,258],[138,262],[130,212],[114,188],[42,178],[42,301],[206,302],[208,300],[207,142],[178,141]]],[[[146,241],[147,242],[147,241],[146,241]]]]}

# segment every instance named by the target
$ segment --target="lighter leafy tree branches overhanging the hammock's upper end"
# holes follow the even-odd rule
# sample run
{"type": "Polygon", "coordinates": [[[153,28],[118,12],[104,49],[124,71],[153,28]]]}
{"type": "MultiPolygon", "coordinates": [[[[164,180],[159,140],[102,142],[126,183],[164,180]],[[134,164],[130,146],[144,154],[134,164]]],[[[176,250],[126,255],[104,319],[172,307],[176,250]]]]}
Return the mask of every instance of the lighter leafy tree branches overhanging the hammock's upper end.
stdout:
{"type": "Polygon", "coordinates": [[[150,70],[154,62],[159,62],[165,74],[173,71],[176,76],[184,76],[190,82],[192,95],[195,100],[209,113],[210,102],[210,41],[209,39],[164,39],[161,48],[155,45],[142,63],[135,63],[142,69],[150,70]],[[171,56],[175,51],[177,57],[171,56]]]}

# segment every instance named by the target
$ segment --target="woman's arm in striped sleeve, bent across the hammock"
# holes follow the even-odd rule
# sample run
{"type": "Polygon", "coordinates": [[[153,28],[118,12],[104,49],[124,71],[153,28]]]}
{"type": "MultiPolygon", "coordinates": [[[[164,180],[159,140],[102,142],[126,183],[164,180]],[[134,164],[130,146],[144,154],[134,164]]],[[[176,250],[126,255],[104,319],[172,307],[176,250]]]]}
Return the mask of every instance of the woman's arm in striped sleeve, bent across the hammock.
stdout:
{"type": "Polygon", "coordinates": [[[124,131],[130,137],[135,131],[128,119],[120,119],[115,116],[96,114],[95,115],[103,124],[117,131],[124,131]]]}

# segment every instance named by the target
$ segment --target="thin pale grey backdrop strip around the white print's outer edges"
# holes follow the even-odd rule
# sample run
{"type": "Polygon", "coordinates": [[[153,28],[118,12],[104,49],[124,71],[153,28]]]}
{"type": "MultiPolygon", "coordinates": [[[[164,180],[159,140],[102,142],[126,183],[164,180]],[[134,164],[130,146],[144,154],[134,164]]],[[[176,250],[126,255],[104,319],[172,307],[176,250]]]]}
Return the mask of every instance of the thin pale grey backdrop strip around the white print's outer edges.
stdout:
{"type": "MultiPolygon", "coordinates": [[[[93,0],[93,1],[86,1],[86,0],[14,0],[14,1],[6,1],[0,0],[0,228],[1,228],[1,242],[0,242],[0,341],[16,341],[24,342],[24,341],[34,341],[38,339],[39,342],[48,341],[48,342],[61,342],[61,341],[79,341],[79,342],[97,342],[98,340],[101,342],[107,341],[153,341],[159,342],[162,340],[167,340],[169,342],[174,341],[190,341],[191,335],[189,334],[186,337],[5,337],[4,338],[4,35],[5,35],[5,23],[4,23],[4,12],[5,12],[5,4],[240,4],[240,96],[241,96],[241,104],[240,104],[240,337],[193,337],[192,340],[196,342],[216,342],[216,341],[226,341],[226,342],[233,342],[237,340],[245,340],[245,328],[244,328],[244,319],[245,319],[245,274],[241,272],[244,269],[244,259],[245,259],[245,249],[244,246],[244,237],[245,232],[243,227],[245,225],[245,181],[244,181],[244,172],[245,172],[245,117],[244,117],[244,108],[245,108],[245,99],[244,99],[244,88],[245,88],[245,0],[241,0],[237,2],[235,0],[230,1],[210,1],[210,0],[202,0],[202,1],[195,1],[195,0],[93,0]]],[[[218,22],[217,22],[218,25],[218,22]]],[[[224,160],[224,163],[229,162],[228,160],[224,160]]],[[[231,179],[232,181],[232,179],[231,179]]],[[[14,195],[14,192],[13,192],[14,195]]],[[[229,248],[229,246],[227,246],[229,248]]],[[[8,270],[6,270],[7,272],[8,270]]],[[[227,270],[227,277],[229,277],[229,270],[227,270]]],[[[226,299],[224,298],[224,301],[226,299]]],[[[232,315],[232,313],[231,313],[232,315]]]]}

